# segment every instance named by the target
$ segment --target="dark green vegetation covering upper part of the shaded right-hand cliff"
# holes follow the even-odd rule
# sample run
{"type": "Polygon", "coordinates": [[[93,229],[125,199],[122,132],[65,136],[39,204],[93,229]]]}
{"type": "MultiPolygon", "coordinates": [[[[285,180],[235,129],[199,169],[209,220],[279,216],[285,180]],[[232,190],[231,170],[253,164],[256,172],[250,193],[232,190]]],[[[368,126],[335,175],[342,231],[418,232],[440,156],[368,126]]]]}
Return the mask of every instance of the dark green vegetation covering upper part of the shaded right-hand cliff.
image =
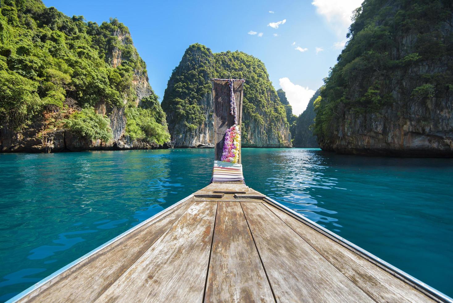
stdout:
{"type": "Polygon", "coordinates": [[[345,112],[451,96],[452,7],[448,0],[367,0],[356,10],[350,40],[315,104],[318,142],[333,146],[340,123],[348,123],[345,112]]]}

